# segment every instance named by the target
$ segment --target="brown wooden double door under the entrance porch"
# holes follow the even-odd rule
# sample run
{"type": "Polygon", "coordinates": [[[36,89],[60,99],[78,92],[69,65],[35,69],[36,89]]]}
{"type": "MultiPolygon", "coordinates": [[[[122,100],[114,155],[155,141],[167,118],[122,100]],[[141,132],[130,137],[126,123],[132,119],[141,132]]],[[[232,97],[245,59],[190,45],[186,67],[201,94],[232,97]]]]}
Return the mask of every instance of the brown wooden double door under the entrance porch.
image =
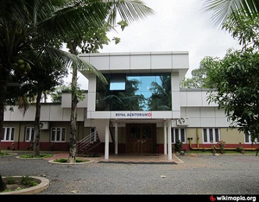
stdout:
{"type": "Polygon", "coordinates": [[[127,153],[153,153],[156,144],[156,124],[127,124],[127,153]]]}

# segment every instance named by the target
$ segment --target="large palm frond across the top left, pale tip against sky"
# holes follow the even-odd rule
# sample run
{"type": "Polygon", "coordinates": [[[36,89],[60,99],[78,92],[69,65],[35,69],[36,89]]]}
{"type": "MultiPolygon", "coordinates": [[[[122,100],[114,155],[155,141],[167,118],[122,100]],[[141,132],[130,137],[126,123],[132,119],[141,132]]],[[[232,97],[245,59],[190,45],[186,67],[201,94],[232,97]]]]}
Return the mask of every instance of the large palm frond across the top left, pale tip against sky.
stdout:
{"type": "Polygon", "coordinates": [[[115,26],[118,14],[127,23],[132,23],[154,14],[154,10],[142,1],[79,0],[57,8],[48,18],[39,21],[37,26],[43,39],[49,36],[62,39],[76,30],[94,29],[107,22],[115,26]]]}

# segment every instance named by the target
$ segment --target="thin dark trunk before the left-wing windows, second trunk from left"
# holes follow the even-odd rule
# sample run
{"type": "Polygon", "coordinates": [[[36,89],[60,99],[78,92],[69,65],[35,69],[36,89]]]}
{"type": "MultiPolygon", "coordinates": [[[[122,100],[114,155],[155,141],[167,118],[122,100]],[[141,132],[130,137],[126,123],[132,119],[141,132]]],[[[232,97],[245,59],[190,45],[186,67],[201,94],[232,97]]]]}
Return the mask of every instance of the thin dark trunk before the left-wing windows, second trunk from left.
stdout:
{"type": "Polygon", "coordinates": [[[39,119],[41,118],[41,94],[42,92],[38,92],[37,100],[36,100],[36,112],[34,119],[34,144],[33,144],[33,156],[39,156],[39,142],[40,142],[40,130],[39,130],[39,119]]]}

